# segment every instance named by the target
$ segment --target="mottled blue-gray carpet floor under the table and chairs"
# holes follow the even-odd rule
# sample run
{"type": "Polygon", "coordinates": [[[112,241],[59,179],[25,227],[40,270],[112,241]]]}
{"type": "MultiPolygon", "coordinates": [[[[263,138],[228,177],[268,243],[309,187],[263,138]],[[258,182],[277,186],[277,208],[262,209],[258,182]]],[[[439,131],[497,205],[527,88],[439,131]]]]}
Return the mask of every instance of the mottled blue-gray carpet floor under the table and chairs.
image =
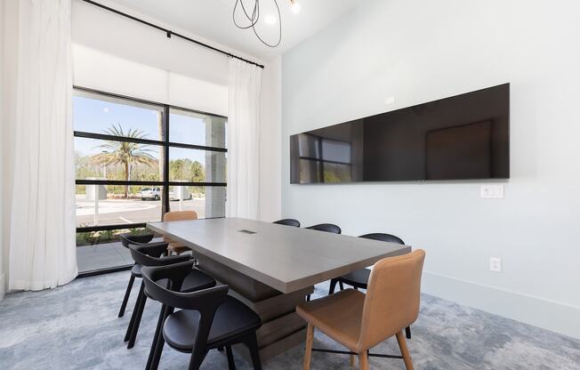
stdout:
{"type": "MultiPolygon", "coordinates": [[[[123,337],[137,287],[124,318],[117,318],[128,272],[77,279],[43,292],[8,294],[0,302],[0,369],[143,369],[159,306],[148,302],[132,350],[123,337]]],[[[324,295],[326,285],[316,287],[324,295]]],[[[416,369],[580,369],[580,341],[423,294],[408,341],[416,369]]],[[[317,334],[315,346],[340,349],[317,334]]],[[[399,354],[390,339],[373,350],[399,354]]],[[[263,364],[265,370],[302,369],[298,346],[263,364]]],[[[235,355],[238,369],[250,369],[235,355]]],[[[160,368],[186,369],[189,356],[165,346],[160,368]]],[[[314,353],[312,369],[350,369],[348,357],[314,353]]],[[[372,369],[404,369],[402,360],[371,358],[372,369]]],[[[227,369],[209,353],[202,369],[227,369]]]]}

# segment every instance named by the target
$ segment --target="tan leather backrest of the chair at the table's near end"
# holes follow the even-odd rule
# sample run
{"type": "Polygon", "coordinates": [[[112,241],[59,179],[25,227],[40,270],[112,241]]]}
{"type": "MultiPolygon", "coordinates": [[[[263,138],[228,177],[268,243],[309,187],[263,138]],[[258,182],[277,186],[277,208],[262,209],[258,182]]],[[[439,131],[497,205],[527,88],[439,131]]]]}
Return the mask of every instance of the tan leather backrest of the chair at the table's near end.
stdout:
{"type": "Polygon", "coordinates": [[[419,315],[425,252],[418,249],[376,262],[368,279],[357,350],[383,342],[419,315]]]}

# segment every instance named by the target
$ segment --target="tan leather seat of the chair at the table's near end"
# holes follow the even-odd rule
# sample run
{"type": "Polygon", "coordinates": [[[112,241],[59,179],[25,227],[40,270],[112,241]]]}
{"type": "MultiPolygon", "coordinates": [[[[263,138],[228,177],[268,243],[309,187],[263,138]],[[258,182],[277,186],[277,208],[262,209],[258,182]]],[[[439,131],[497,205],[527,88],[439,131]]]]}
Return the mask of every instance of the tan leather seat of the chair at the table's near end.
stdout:
{"type": "Polygon", "coordinates": [[[365,294],[346,289],[298,306],[296,313],[334,341],[356,350],[364,305],[365,294]]]}

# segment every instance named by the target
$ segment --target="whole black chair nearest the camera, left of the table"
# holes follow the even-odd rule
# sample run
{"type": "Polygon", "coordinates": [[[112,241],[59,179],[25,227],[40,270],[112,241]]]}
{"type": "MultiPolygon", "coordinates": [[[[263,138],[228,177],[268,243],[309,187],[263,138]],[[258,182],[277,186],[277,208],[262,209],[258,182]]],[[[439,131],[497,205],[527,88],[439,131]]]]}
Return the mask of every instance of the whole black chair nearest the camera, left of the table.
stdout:
{"type": "Polygon", "coordinates": [[[146,294],[162,303],[146,369],[157,370],[167,342],[174,350],[191,353],[189,370],[199,369],[207,352],[220,347],[226,348],[230,370],[235,369],[231,346],[244,343],[250,350],[254,370],[261,370],[256,330],[262,321],[244,303],[228,295],[229,286],[175,292],[192,265],[192,261],[187,261],[142,269],[146,294]]]}

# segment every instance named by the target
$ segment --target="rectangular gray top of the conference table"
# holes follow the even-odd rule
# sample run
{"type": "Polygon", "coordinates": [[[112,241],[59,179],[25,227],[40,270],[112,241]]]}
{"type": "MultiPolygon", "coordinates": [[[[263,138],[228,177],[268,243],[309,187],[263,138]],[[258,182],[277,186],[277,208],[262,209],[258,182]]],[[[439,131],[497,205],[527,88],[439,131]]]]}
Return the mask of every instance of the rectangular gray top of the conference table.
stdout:
{"type": "Polygon", "coordinates": [[[238,218],[152,222],[147,227],[282,293],[411,252],[409,245],[238,218]]]}

